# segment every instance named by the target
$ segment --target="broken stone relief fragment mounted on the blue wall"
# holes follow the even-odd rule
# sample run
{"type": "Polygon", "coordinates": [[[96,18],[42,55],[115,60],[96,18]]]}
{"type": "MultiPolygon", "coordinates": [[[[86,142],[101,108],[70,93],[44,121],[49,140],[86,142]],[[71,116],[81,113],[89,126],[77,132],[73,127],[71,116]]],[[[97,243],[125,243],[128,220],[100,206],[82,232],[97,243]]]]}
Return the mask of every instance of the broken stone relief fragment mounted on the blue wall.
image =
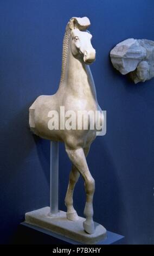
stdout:
{"type": "Polygon", "coordinates": [[[110,52],[111,62],[121,74],[128,74],[134,83],[154,77],[154,41],[126,39],[110,52]]]}

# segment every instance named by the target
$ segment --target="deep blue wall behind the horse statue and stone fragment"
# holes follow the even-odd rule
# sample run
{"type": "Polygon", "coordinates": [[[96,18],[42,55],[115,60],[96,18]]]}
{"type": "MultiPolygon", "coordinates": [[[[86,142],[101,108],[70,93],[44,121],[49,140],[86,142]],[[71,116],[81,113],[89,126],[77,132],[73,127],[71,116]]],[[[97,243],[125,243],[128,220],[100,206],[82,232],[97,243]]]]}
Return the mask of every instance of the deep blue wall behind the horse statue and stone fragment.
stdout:
{"type": "MultiPolygon", "coordinates": [[[[154,79],[133,84],[113,69],[109,53],[127,38],[154,40],[153,0],[1,0],[0,236],[9,243],[24,213],[49,204],[49,142],[33,136],[28,108],[54,94],[62,38],[72,16],[91,20],[97,60],[91,66],[107,134],[87,157],[96,182],[94,219],[126,243],[154,243],[154,79]]],[[[60,145],[60,209],[65,210],[70,162],[60,145]]],[[[83,214],[80,179],[74,202],[83,214]]]]}

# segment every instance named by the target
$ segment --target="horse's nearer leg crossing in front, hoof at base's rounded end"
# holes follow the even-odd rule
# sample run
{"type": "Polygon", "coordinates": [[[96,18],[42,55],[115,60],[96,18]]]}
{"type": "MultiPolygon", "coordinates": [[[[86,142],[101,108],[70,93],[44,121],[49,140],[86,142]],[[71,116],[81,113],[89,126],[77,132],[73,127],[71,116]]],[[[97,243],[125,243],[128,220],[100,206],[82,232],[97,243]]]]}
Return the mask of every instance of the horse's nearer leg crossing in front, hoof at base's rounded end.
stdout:
{"type": "Polygon", "coordinates": [[[72,161],[74,166],[79,170],[80,174],[85,180],[86,189],[86,205],[84,214],[86,216],[86,221],[83,223],[84,229],[88,234],[94,233],[94,222],[93,222],[93,195],[95,190],[94,179],[89,172],[87,161],[84,153],[84,149],[69,149],[66,145],[66,152],[69,159],[72,161]]]}

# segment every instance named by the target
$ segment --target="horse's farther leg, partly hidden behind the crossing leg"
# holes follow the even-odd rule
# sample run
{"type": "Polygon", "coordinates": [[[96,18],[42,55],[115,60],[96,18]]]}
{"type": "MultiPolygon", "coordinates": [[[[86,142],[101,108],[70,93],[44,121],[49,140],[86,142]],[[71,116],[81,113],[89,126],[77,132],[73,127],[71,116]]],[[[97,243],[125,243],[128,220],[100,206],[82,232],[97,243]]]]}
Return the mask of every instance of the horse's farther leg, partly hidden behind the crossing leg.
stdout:
{"type": "Polygon", "coordinates": [[[79,176],[80,176],[80,173],[73,164],[72,170],[69,174],[69,183],[68,183],[67,193],[65,197],[65,205],[67,207],[66,216],[70,221],[77,221],[79,219],[78,214],[76,213],[73,207],[73,192],[74,192],[75,184],[79,179],[79,176]]]}

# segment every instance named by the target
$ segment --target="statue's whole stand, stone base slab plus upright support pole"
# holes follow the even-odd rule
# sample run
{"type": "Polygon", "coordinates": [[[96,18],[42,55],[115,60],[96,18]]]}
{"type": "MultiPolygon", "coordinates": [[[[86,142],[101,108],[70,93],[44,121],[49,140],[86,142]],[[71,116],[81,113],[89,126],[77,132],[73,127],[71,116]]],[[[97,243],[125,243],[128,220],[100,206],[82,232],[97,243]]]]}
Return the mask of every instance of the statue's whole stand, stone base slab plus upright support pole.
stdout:
{"type": "Polygon", "coordinates": [[[64,240],[70,240],[85,244],[95,244],[106,238],[106,229],[99,223],[94,222],[95,232],[87,234],[83,228],[85,218],[79,217],[78,221],[69,221],[66,212],[58,209],[59,188],[59,144],[50,143],[50,207],[30,211],[25,214],[25,224],[37,227],[60,235],[64,240]]]}

